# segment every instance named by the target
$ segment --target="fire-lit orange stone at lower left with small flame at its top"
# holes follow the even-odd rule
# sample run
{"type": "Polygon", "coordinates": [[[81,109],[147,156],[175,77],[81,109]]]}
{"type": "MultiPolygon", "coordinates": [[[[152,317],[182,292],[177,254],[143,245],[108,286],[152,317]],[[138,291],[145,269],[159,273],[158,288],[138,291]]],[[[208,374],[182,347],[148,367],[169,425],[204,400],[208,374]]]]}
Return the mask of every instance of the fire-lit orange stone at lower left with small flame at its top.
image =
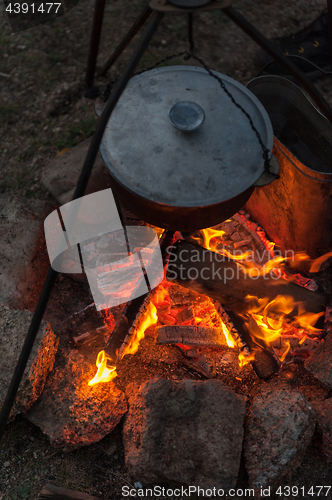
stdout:
{"type": "Polygon", "coordinates": [[[56,363],[42,396],[26,418],[63,451],[100,441],[127,412],[125,394],[114,382],[89,386],[96,366],[78,350],[56,363]]]}

